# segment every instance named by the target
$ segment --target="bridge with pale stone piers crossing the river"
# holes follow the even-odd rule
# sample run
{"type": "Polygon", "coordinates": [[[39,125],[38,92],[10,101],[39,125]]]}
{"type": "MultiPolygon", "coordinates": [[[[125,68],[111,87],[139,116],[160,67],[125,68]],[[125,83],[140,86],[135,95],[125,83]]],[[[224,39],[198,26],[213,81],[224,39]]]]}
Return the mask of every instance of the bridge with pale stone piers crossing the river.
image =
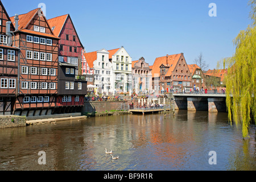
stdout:
{"type": "Polygon", "coordinates": [[[225,94],[174,94],[176,110],[205,110],[226,112],[225,94]]]}

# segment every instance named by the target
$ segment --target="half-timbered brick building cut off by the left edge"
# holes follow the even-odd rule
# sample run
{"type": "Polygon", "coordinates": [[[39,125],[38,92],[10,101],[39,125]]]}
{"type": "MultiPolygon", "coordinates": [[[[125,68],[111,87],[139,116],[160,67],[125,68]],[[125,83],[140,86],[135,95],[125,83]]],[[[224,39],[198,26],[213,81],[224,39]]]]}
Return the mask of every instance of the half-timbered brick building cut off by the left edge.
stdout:
{"type": "Polygon", "coordinates": [[[0,1],[0,115],[14,112],[19,49],[13,47],[15,28],[0,1]]]}

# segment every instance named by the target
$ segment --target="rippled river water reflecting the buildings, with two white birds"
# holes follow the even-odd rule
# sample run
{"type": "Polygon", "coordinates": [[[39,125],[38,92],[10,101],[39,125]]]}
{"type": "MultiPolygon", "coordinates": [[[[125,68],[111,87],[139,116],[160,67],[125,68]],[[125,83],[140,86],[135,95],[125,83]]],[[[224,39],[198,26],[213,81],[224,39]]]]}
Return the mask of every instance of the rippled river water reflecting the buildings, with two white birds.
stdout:
{"type": "Polygon", "coordinates": [[[0,129],[0,171],[256,170],[255,126],[243,140],[227,118],[180,110],[0,129]],[[46,165],[38,163],[40,151],[46,165]],[[209,164],[210,151],[217,164],[209,164]]]}

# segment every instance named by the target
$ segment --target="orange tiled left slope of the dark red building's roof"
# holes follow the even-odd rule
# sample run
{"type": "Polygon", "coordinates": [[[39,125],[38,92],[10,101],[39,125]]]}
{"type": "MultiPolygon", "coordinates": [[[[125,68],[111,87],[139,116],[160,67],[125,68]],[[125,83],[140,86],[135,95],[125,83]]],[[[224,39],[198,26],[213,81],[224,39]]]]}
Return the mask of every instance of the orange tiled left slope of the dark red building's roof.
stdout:
{"type": "Polygon", "coordinates": [[[56,36],[60,35],[60,32],[66,22],[68,18],[68,14],[67,15],[62,15],[62,16],[57,16],[55,18],[52,19],[48,19],[48,23],[50,27],[55,27],[53,30],[53,34],[56,36]]]}

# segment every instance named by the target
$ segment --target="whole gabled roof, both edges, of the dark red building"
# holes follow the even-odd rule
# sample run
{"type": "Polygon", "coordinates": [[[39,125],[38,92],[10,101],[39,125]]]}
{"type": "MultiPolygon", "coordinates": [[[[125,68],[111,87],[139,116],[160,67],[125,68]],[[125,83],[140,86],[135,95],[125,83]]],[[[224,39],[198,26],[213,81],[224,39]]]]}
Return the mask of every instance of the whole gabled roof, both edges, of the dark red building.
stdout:
{"type": "MultiPolygon", "coordinates": [[[[48,19],[49,26],[50,26],[51,28],[52,28],[52,27],[55,27],[55,28],[53,29],[53,34],[56,35],[56,36],[58,36],[58,37],[60,37],[60,33],[61,33],[61,31],[63,30],[63,27],[64,27],[65,23],[67,22],[67,19],[68,19],[68,18],[71,20],[71,23],[72,23],[73,28],[74,28],[74,30],[75,30],[75,32],[76,32],[77,38],[79,39],[79,35],[77,34],[76,28],[75,28],[75,26],[74,26],[74,24],[73,24],[73,21],[72,21],[72,19],[71,19],[71,16],[70,16],[69,14],[67,14],[67,15],[62,15],[62,16],[57,16],[57,17],[52,18],[52,19],[48,19]]],[[[81,46],[82,46],[82,43],[81,43],[80,39],[79,39],[79,42],[80,42],[80,44],[81,44],[81,46]]],[[[82,46],[82,48],[84,48],[84,46],[82,46]]]]}

